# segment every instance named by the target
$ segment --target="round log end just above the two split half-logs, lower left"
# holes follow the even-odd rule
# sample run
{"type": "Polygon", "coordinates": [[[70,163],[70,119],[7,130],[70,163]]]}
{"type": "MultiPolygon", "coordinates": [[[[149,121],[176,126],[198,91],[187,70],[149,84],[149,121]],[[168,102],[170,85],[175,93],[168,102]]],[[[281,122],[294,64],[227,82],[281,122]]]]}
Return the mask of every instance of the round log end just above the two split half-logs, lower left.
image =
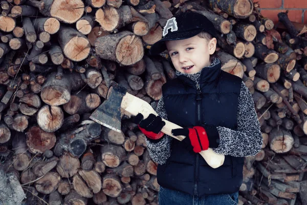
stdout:
{"type": "Polygon", "coordinates": [[[74,176],[78,169],[80,168],[80,161],[77,157],[72,155],[63,154],[59,157],[59,162],[56,167],[56,171],[61,175],[61,177],[69,178],[74,176]]]}

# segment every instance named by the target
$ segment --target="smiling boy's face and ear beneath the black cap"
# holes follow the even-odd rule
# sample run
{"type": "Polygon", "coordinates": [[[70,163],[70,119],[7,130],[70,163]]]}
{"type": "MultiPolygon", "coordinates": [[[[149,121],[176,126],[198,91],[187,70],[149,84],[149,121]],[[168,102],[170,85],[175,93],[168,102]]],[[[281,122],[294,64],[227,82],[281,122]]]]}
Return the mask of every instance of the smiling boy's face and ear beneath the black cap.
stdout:
{"type": "Polygon", "coordinates": [[[215,51],[216,38],[208,42],[195,35],[183,40],[169,40],[166,47],[176,70],[192,74],[210,66],[210,55],[215,51]]]}

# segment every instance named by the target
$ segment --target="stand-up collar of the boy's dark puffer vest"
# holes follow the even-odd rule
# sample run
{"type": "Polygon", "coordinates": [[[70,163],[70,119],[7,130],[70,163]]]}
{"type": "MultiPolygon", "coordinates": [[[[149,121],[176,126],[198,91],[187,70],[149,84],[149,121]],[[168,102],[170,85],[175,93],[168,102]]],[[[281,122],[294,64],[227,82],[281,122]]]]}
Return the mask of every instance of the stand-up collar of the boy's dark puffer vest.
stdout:
{"type": "MultiPolygon", "coordinates": [[[[199,79],[199,84],[207,84],[210,83],[211,81],[214,81],[222,72],[221,70],[221,61],[218,58],[215,58],[217,60],[217,63],[211,64],[208,67],[204,67],[200,72],[200,79],[199,79]]],[[[189,77],[185,75],[178,75],[177,76],[180,80],[183,80],[185,84],[188,85],[195,85],[195,82],[191,80],[189,77]]]]}

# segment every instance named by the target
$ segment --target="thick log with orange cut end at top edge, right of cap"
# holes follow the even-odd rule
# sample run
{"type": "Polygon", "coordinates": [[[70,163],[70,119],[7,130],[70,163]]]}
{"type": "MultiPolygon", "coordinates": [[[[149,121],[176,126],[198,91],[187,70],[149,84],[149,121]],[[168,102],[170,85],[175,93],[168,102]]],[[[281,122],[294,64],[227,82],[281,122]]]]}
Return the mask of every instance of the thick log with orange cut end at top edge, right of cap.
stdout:
{"type": "Polygon", "coordinates": [[[212,9],[219,8],[237,18],[247,18],[253,11],[253,3],[251,1],[234,0],[219,2],[217,0],[210,0],[209,4],[212,9]]]}

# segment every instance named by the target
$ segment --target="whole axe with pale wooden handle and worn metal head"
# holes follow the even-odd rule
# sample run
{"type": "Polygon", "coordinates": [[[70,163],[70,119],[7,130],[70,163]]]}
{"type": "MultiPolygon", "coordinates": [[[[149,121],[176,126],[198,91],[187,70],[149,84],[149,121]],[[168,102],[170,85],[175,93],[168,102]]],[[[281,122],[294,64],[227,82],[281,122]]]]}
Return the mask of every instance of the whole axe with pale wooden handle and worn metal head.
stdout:
{"type": "MultiPolygon", "coordinates": [[[[108,88],[106,99],[91,114],[90,118],[107,128],[121,132],[121,109],[132,115],[141,113],[144,118],[148,117],[151,113],[158,115],[145,100],[127,93],[125,88],[112,81],[108,88]]],[[[163,118],[162,120],[165,121],[165,126],[161,130],[163,133],[180,141],[185,138],[185,136],[173,136],[171,134],[172,129],[182,127],[163,118]]],[[[211,148],[201,151],[200,154],[212,168],[218,168],[224,163],[225,156],[213,152],[211,148]]]]}

